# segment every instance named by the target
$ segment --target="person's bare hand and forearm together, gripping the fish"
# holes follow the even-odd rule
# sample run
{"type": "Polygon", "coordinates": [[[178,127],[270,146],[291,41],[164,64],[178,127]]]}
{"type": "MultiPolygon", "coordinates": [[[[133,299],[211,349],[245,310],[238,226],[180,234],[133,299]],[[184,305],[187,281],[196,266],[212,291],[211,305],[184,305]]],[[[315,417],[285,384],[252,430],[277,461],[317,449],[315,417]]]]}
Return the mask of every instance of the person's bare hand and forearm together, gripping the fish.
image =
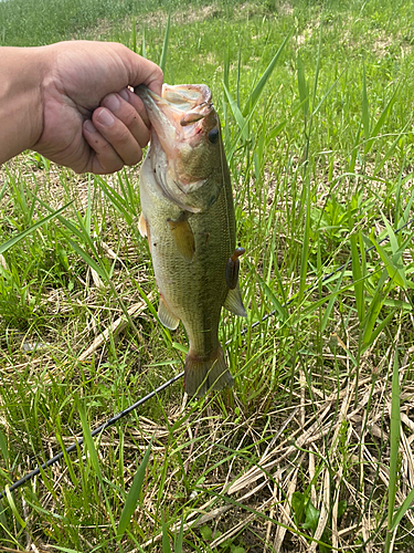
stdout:
{"type": "Polygon", "coordinates": [[[0,48],[0,164],[25,149],[76,173],[137,164],[150,127],[139,84],[160,94],[160,67],[118,43],[0,48]]]}

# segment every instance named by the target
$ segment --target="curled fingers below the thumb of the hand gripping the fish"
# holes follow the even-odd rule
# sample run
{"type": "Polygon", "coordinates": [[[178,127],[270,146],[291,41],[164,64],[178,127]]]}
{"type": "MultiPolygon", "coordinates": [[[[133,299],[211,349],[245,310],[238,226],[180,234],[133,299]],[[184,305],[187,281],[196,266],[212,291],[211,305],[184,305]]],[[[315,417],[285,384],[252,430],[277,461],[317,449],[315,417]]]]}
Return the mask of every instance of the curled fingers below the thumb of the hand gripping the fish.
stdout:
{"type": "Polygon", "coordinates": [[[102,175],[136,165],[149,140],[148,126],[142,102],[128,88],[106,96],[94,111],[92,122],[83,126],[84,137],[95,153],[89,170],[102,175]]]}

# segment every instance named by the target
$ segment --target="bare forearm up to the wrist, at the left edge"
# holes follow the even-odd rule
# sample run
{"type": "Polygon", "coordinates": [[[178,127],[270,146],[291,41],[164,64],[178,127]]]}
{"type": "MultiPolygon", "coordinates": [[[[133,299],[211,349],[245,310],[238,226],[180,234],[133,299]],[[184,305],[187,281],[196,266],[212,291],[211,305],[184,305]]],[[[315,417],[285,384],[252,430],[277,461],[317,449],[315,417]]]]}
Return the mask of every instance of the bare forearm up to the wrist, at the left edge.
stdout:
{"type": "Polygon", "coordinates": [[[0,164],[42,134],[42,48],[0,48],[0,164]]]}

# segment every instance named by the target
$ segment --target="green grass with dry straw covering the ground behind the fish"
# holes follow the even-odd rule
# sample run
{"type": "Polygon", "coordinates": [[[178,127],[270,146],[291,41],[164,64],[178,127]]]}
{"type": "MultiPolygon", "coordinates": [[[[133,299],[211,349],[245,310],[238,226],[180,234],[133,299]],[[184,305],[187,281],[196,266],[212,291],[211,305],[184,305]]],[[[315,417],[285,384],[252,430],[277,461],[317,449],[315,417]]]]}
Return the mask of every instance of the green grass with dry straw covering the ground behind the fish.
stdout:
{"type": "Polygon", "coordinates": [[[413,217],[414,3],[343,4],[0,3],[2,44],[118,40],[169,83],[210,85],[248,310],[221,325],[234,389],[183,405],[178,383],[87,437],[182,371],[137,231],[139,168],[6,164],[0,488],[85,445],[2,500],[0,549],[414,547],[412,226],[395,233],[413,217]]]}

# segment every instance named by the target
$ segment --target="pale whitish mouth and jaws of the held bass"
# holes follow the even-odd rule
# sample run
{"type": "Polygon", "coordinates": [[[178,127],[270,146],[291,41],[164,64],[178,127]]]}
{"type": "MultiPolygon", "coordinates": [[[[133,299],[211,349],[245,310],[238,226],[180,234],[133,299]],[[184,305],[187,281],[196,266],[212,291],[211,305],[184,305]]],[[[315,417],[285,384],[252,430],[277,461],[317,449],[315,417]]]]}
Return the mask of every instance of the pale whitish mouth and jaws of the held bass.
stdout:
{"type": "Polygon", "coordinates": [[[195,147],[216,125],[211,91],[204,84],[163,84],[162,96],[140,85],[135,93],[142,100],[152,129],[168,157],[178,155],[177,144],[195,147]]]}

